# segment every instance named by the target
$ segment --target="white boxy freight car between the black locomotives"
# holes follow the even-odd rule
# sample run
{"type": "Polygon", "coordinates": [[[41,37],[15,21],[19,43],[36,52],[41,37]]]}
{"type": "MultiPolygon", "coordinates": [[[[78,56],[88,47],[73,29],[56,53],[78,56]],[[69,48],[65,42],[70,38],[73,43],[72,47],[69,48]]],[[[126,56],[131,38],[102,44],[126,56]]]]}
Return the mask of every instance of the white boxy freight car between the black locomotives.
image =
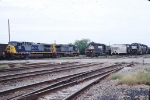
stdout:
{"type": "Polygon", "coordinates": [[[129,44],[113,44],[110,46],[112,54],[130,54],[129,44]]]}

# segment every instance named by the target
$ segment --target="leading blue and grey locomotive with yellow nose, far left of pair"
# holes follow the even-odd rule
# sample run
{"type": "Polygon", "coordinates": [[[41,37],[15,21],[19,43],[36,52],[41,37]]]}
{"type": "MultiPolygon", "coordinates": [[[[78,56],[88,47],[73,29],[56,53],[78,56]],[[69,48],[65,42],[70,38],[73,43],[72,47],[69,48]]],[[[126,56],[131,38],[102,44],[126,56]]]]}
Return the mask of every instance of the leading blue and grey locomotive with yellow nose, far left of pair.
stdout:
{"type": "Polygon", "coordinates": [[[11,59],[24,59],[26,53],[29,57],[51,56],[51,45],[33,42],[10,41],[6,47],[6,57],[11,59]]]}

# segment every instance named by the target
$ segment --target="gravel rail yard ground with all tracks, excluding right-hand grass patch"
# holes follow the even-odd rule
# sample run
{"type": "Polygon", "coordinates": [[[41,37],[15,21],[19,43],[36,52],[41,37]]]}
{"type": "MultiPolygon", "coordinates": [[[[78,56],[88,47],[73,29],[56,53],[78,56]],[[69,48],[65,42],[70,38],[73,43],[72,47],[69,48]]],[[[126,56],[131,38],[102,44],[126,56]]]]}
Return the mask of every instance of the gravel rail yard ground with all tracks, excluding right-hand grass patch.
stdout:
{"type": "Polygon", "coordinates": [[[117,84],[111,73],[150,68],[150,55],[3,60],[0,100],[148,100],[149,85],[117,84]]]}

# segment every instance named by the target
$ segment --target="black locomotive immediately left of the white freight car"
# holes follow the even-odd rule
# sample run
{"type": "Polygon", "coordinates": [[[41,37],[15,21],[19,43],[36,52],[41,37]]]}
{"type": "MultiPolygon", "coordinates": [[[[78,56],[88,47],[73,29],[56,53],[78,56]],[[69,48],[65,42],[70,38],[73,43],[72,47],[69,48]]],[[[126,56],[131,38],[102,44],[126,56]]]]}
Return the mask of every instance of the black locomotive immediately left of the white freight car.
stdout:
{"type": "Polygon", "coordinates": [[[110,47],[100,43],[89,43],[88,49],[85,50],[87,57],[106,55],[110,53],[110,47]]]}

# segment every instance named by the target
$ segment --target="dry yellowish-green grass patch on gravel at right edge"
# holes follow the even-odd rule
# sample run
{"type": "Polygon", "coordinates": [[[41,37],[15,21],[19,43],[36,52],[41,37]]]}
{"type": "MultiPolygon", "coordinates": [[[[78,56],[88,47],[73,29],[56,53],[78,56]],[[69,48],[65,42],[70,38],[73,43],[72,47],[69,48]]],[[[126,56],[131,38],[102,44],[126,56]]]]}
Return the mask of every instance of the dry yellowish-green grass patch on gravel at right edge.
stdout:
{"type": "Polygon", "coordinates": [[[139,72],[127,72],[120,74],[112,74],[110,76],[111,79],[118,79],[118,84],[127,84],[127,85],[135,85],[135,84],[146,84],[150,85],[150,69],[145,69],[139,72]]]}

